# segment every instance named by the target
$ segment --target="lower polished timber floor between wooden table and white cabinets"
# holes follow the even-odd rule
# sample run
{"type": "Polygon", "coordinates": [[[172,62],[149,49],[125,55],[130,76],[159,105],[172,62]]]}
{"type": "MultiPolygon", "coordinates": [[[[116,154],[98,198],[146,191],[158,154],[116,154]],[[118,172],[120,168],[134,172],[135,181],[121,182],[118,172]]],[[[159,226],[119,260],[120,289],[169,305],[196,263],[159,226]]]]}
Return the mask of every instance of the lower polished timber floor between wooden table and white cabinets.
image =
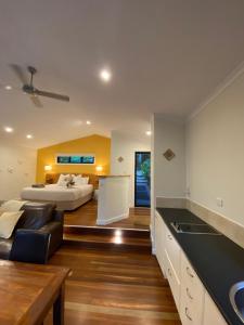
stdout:
{"type": "MultiPolygon", "coordinates": [[[[50,264],[72,269],[65,325],[180,325],[157,261],[150,252],[64,244],[50,264]]],[[[44,325],[51,325],[51,316],[44,325]]]]}

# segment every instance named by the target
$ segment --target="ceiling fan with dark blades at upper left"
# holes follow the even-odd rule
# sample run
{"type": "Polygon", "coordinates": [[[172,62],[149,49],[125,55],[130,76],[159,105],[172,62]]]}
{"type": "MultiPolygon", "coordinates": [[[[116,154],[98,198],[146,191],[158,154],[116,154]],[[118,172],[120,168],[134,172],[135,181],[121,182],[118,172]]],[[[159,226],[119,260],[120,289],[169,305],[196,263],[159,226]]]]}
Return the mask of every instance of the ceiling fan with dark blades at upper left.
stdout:
{"type": "Polygon", "coordinates": [[[23,82],[22,90],[24,93],[28,94],[35,106],[42,107],[42,104],[38,96],[46,96],[59,101],[69,102],[69,96],[57,94],[49,91],[39,90],[34,86],[34,75],[37,73],[37,69],[33,66],[28,66],[27,70],[30,74],[29,81],[26,79],[26,76],[21,66],[16,64],[11,64],[12,69],[14,70],[15,75],[18,79],[23,82]]]}

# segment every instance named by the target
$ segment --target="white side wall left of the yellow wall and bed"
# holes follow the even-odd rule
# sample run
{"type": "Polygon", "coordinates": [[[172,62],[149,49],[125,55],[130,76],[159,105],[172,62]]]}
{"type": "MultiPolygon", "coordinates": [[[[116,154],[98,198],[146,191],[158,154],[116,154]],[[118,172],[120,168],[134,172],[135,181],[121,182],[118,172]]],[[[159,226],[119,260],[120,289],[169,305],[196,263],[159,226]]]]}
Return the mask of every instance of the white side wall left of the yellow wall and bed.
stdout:
{"type": "Polygon", "coordinates": [[[22,187],[35,182],[36,151],[0,143],[0,200],[18,198],[22,187]]]}

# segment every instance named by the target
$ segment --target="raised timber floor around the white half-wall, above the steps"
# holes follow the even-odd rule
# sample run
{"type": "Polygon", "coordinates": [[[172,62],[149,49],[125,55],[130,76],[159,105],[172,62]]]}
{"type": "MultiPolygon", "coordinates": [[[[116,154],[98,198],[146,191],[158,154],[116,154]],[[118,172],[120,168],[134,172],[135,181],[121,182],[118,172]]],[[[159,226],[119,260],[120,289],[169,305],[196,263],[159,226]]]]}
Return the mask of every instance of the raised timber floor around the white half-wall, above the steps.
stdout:
{"type": "MultiPolygon", "coordinates": [[[[95,200],[90,200],[86,205],[76,209],[75,211],[66,211],[64,223],[65,225],[84,225],[97,226],[98,204],[95,200]]],[[[123,229],[142,229],[149,230],[150,226],[150,209],[149,208],[131,208],[129,218],[119,222],[114,222],[108,227],[123,229]]]]}

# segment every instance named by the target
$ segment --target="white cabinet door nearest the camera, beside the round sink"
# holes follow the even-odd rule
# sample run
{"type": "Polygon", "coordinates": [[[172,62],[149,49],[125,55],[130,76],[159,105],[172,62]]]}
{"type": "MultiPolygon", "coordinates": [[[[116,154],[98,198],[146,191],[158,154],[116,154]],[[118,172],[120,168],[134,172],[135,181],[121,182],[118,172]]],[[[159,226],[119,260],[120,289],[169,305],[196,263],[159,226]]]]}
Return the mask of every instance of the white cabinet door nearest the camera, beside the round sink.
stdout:
{"type": "Polygon", "coordinates": [[[203,325],[227,325],[210,296],[205,291],[203,325]]]}

